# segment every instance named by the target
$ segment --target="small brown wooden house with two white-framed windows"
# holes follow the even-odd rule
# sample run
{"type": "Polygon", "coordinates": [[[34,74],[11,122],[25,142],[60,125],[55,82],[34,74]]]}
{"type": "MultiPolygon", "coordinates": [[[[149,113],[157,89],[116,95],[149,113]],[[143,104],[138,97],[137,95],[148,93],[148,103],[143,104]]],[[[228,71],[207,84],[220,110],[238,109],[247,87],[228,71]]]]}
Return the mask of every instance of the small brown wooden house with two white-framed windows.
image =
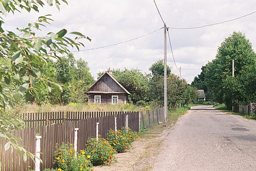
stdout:
{"type": "Polygon", "coordinates": [[[126,104],[130,95],[112,76],[112,72],[105,72],[86,93],[90,104],[126,104]]]}

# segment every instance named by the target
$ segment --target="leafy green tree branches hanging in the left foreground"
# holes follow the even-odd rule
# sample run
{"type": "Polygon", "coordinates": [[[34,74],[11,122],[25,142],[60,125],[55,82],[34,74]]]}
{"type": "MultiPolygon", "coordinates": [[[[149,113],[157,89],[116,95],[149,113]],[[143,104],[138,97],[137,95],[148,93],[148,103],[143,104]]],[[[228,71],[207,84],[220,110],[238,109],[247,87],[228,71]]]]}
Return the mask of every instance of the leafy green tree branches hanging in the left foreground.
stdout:
{"type": "MultiPolygon", "coordinates": [[[[61,1],[67,3],[66,0],[61,1]]],[[[46,3],[49,6],[55,3],[59,9],[59,0],[46,0],[46,3]]],[[[2,0],[0,1],[0,13],[7,16],[8,13],[14,13],[15,10],[39,11],[39,6],[43,7],[44,5],[41,0],[2,0]]],[[[71,32],[77,36],[75,39],[71,39],[66,37],[66,29],[61,29],[57,33],[49,32],[44,37],[37,37],[36,31],[52,21],[50,15],[39,17],[35,23],[29,23],[26,28],[17,28],[19,35],[10,30],[4,30],[2,27],[4,24],[3,16],[0,19],[0,58],[9,64],[0,66],[1,111],[14,105],[15,99],[13,92],[10,91],[10,85],[13,83],[19,87],[17,91],[21,95],[25,94],[26,100],[29,100],[31,95],[39,100],[39,92],[45,89],[51,91],[48,83],[54,85],[56,91],[60,93],[62,86],[43,73],[43,67],[48,64],[47,58],[59,58],[61,54],[68,55],[69,46],[79,49],[79,46],[84,46],[79,40],[90,40],[90,38],[79,32],[71,32]]],[[[33,155],[21,147],[16,137],[10,133],[11,130],[19,129],[20,123],[22,123],[20,120],[4,116],[1,113],[0,140],[6,142],[6,150],[9,148],[16,149],[26,160],[27,156],[32,157],[33,155]]]]}

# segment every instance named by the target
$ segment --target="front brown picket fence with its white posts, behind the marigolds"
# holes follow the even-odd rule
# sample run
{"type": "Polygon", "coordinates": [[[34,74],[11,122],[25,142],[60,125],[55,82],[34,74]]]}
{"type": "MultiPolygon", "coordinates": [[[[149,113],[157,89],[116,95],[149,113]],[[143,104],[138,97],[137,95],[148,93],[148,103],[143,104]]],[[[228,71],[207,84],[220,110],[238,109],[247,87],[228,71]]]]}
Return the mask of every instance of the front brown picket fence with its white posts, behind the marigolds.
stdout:
{"type": "MultiPolygon", "coordinates": [[[[63,113],[60,114],[62,115],[63,113]]],[[[43,163],[40,163],[37,158],[36,163],[32,162],[31,159],[23,162],[23,158],[20,157],[17,152],[14,151],[11,153],[11,150],[5,152],[5,142],[2,141],[0,142],[1,171],[28,171],[29,169],[39,171],[44,168],[52,168],[56,143],[72,143],[74,148],[79,151],[85,149],[86,140],[88,138],[98,137],[98,134],[101,134],[102,137],[106,137],[109,129],[117,130],[125,126],[136,132],[139,131],[138,112],[109,113],[109,115],[105,113],[105,115],[96,116],[98,117],[80,120],[73,118],[73,121],[66,120],[66,122],[63,123],[55,123],[55,121],[60,121],[57,114],[57,117],[53,117],[53,119],[56,120],[52,119],[53,122],[48,123],[51,125],[40,126],[39,129],[35,127],[37,124],[30,122],[30,125],[34,126],[33,128],[18,130],[15,131],[14,134],[22,139],[21,144],[24,148],[40,157],[43,163]],[[40,136],[36,136],[37,130],[39,130],[40,136]]],[[[41,121],[36,120],[34,122],[38,123],[41,121]]]]}

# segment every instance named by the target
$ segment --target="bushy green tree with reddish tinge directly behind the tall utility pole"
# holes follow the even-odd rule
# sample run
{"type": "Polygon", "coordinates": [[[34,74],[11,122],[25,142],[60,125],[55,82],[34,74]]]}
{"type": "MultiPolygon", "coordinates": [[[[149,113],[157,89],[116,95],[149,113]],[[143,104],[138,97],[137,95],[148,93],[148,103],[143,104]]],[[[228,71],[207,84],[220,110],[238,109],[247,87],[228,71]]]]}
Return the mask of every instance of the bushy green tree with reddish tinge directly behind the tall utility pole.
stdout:
{"type": "MultiPolygon", "coordinates": [[[[167,105],[176,108],[178,104],[189,104],[197,99],[197,90],[187,85],[186,80],[180,79],[171,73],[170,67],[167,77],[167,105]]],[[[150,66],[152,76],[149,79],[149,100],[153,104],[164,105],[164,63],[162,60],[150,66]]]]}

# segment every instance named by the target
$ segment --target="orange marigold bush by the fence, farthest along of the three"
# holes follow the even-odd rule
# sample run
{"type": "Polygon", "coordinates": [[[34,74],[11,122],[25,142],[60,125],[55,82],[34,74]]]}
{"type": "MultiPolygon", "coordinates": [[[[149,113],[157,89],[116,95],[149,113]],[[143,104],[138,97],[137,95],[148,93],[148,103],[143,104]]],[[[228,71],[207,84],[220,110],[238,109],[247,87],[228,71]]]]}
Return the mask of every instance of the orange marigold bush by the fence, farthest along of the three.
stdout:
{"type": "Polygon", "coordinates": [[[131,131],[130,128],[125,129],[124,127],[117,132],[110,129],[107,134],[108,142],[117,152],[126,152],[129,150],[131,148],[131,142],[134,142],[137,138],[137,132],[131,131]]]}

